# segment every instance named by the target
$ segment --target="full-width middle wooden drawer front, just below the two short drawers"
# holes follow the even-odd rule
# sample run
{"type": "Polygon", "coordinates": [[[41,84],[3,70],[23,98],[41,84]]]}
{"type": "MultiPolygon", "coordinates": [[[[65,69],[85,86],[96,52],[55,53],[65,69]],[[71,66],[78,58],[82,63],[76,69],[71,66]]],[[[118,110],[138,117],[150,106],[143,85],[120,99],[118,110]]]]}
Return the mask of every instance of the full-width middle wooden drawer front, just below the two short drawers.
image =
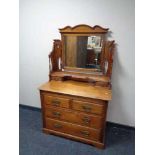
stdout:
{"type": "Polygon", "coordinates": [[[103,123],[103,117],[85,114],[73,110],[64,110],[61,108],[46,108],[45,115],[49,118],[64,120],[96,129],[102,128],[103,123]]]}

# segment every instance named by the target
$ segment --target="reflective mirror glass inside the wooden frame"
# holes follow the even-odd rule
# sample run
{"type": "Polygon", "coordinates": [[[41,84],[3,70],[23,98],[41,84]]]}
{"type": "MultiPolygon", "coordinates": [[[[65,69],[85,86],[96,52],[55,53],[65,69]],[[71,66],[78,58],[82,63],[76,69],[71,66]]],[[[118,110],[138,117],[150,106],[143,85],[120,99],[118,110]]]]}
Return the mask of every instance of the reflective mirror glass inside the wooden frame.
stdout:
{"type": "Polygon", "coordinates": [[[102,36],[64,36],[65,66],[100,71],[102,36]]]}

